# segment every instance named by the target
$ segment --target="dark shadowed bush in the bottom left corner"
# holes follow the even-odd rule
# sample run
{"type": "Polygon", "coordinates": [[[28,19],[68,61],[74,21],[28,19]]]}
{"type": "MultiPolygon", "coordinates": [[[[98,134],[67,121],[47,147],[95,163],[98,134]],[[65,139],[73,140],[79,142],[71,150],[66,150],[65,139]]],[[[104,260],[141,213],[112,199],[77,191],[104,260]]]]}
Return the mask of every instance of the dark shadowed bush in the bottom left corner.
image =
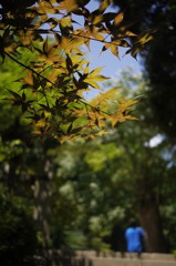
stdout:
{"type": "Polygon", "coordinates": [[[38,242],[31,204],[0,184],[0,260],[4,266],[32,265],[38,242]]]}

